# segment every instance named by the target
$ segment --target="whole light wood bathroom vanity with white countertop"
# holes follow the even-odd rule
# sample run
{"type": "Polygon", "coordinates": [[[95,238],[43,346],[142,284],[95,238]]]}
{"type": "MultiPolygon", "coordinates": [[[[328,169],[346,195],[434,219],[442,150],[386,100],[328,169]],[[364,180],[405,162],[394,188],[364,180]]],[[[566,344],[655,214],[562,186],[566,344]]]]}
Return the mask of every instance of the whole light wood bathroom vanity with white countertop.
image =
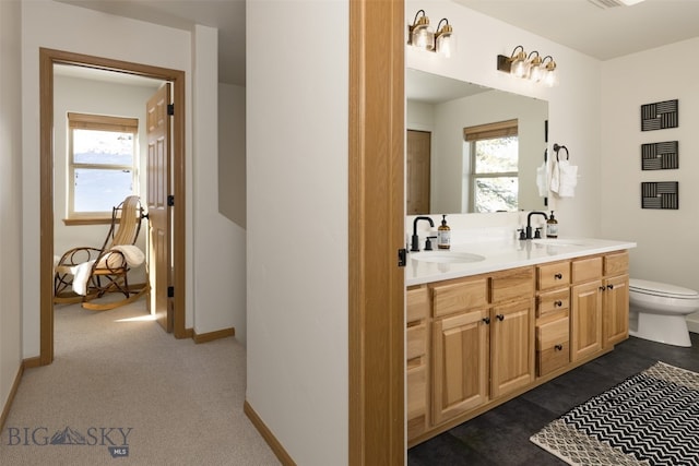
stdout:
{"type": "Polygon", "coordinates": [[[631,242],[484,242],[408,254],[408,447],[628,337],[631,242]]]}

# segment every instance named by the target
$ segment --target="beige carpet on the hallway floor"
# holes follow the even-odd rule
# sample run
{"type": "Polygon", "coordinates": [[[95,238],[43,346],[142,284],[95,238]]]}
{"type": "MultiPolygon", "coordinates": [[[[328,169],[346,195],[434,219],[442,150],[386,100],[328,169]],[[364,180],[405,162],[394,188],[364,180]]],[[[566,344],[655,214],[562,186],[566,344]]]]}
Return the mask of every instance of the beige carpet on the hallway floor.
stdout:
{"type": "Polygon", "coordinates": [[[245,347],[175,339],[144,307],[56,308],[55,361],[24,372],[0,465],[279,464],[242,414],[245,347]]]}

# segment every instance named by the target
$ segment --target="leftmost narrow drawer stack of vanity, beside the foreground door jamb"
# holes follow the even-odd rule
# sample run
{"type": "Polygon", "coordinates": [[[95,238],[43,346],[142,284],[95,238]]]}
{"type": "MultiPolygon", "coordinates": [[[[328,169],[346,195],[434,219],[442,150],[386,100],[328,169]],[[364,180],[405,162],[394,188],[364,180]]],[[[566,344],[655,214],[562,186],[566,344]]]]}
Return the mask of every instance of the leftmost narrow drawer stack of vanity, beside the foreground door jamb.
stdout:
{"type": "Polygon", "coordinates": [[[407,439],[424,433],[428,426],[428,316],[431,302],[427,285],[407,289],[405,330],[405,379],[407,392],[407,439]]]}

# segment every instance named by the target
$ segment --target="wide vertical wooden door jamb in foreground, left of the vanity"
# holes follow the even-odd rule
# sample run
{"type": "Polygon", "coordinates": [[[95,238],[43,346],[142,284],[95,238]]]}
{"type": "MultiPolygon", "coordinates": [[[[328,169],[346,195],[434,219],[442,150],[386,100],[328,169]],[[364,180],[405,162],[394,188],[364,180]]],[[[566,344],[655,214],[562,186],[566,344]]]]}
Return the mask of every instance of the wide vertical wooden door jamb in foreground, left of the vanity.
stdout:
{"type": "Polygon", "coordinates": [[[405,461],[404,20],[350,1],[350,465],[405,461]]]}

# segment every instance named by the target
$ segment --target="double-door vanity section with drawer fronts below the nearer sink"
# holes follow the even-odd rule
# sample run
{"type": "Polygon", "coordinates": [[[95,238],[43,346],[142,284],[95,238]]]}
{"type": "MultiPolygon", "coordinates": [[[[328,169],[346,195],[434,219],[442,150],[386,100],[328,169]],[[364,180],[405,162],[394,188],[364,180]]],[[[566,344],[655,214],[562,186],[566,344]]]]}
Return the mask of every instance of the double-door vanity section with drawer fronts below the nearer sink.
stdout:
{"type": "Polygon", "coordinates": [[[533,267],[433,287],[434,425],[534,380],[533,295],[533,267]]]}

